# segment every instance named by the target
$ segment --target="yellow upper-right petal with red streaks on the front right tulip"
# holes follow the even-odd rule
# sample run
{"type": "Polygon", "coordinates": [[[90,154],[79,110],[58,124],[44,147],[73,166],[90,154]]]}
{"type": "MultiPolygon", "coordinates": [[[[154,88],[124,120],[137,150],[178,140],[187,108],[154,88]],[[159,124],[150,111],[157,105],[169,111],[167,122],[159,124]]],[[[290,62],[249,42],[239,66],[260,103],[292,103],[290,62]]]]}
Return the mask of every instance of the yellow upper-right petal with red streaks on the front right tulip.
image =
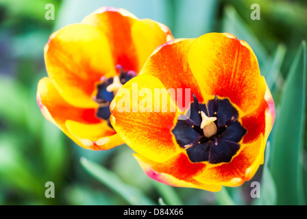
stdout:
{"type": "Polygon", "coordinates": [[[204,34],[189,51],[188,63],[206,101],[228,97],[244,114],[260,105],[265,84],[254,52],[232,34],[204,34]]]}

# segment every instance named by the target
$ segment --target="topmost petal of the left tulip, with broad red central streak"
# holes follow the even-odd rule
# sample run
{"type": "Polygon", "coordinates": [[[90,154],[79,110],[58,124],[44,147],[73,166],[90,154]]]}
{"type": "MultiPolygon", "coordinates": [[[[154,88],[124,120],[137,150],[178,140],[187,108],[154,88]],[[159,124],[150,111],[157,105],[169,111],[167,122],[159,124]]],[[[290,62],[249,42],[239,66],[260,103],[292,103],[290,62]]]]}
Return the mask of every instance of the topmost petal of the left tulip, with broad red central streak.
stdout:
{"type": "Polygon", "coordinates": [[[114,65],[137,73],[160,44],[171,40],[165,25],[150,19],[138,19],[123,8],[102,7],[86,16],[82,23],[94,25],[108,37],[114,65]]]}

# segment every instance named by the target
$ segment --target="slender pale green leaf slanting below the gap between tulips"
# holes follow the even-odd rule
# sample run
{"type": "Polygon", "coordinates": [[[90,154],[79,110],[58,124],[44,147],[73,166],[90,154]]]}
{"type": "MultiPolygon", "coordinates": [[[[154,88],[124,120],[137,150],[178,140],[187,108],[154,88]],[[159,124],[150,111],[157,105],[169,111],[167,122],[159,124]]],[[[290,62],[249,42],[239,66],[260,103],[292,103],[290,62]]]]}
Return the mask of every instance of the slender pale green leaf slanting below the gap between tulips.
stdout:
{"type": "Polygon", "coordinates": [[[119,194],[127,203],[131,205],[156,205],[156,203],[153,203],[153,201],[145,196],[138,188],[123,183],[123,181],[110,170],[84,157],[82,157],[80,161],[90,175],[98,179],[103,185],[110,188],[110,190],[116,192],[116,194],[119,194]]]}

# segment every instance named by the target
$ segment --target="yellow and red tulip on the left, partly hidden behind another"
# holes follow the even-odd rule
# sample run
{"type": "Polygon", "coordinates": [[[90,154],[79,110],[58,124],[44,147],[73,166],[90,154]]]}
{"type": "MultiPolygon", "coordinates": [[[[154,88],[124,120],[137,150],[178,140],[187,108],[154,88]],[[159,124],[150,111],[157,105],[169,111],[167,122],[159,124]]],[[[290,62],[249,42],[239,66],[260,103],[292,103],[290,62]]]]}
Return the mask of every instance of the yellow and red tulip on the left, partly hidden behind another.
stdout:
{"type": "Polygon", "coordinates": [[[56,31],[44,50],[49,77],[38,83],[42,114],[86,149],[123,144],[110,125],[110,101],[172,38],[161,23],[108,7],[56,31]]]}

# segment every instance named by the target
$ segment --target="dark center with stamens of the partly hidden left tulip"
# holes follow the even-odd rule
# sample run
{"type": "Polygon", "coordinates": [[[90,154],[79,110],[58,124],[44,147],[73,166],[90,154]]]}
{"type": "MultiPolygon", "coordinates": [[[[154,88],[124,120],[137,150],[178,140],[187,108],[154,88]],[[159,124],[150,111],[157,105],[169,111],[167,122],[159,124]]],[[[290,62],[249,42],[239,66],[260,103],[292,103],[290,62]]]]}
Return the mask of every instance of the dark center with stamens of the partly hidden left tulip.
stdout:
{"type": "Polygon", "coordinates": [[[99,104],[97,110],[97,116],[99,118],[102,118],[103,120],[107,120],[108,125],[110,127],[112,127],[110,123],[110,116],[111,116],[110,103],[114,99],[114,96],[116,94],[116,92],[110,89],[110,86],[113,86],[115,82],[123,85],[133,77],[136,77],[136,73],[133,70],[123,70],[122,66],[120,65],[117,65],[116,68],[119,70],[119,75],[115,76],[117,78],[102,77],[101,83],[99,83],[99,85],[97,86],[98,88],[97,95],[94,97],[95,101],[99,104]]]}

